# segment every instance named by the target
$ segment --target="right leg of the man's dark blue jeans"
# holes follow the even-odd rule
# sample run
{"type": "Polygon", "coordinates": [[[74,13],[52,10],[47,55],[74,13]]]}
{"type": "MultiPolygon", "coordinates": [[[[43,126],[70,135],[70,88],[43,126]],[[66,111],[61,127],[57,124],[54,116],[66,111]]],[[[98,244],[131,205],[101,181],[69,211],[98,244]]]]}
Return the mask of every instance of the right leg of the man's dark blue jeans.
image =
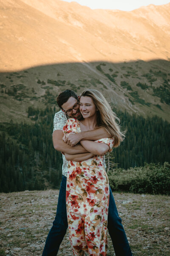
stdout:
{"type": "MultiPolygon", "coordinates": [[[[110,186],[109,186],[110,187],[110,186]]],[[[111,236],[116,256],[132,256],[129,243],[119,217],[113,194],[110,187],[109,210],[108,210],[108,231],[111,236]]]]}

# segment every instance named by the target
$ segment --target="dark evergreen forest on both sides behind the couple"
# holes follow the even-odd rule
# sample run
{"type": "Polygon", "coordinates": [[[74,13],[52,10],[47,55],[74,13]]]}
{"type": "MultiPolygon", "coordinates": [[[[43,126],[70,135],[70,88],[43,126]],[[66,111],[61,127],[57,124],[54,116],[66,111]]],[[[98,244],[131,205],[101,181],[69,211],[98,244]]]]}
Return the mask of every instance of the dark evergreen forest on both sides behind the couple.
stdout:
{"type": "MultiPolygon", "coordinates": [[[[30,123],[0,124],[0,192],[59,189],[62,154],[52,143],[57,109],[28,108],[30,123]]],[[[117,112],[125,140],[113,148],[111,161],[118,168],[164,164],[170,159],[170,123],[158,116],[144,118],[117,112]]]]}

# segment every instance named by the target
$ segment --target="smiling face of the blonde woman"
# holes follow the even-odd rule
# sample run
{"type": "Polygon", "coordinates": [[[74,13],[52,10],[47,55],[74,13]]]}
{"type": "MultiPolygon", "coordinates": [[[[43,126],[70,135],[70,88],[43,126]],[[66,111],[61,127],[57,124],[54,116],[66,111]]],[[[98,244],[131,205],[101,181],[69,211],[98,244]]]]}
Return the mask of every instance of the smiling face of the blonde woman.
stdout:
{"type": "Polygon", "coordinates": [[[88,96],[82,96],[79,102],[79,110],[83,118],[88,118],[96,115],[96,105],[93,102],[93,99],[88,96]]]}

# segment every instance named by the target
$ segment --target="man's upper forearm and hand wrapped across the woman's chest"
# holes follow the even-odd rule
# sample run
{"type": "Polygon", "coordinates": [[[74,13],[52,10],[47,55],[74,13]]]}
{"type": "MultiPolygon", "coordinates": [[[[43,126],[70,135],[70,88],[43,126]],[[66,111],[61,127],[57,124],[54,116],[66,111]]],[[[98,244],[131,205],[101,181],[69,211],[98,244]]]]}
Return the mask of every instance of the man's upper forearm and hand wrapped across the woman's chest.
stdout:
{"type": "Polygon", "coordinates": [[[74,147],[80,140],[100,140],[102,138],[110,138],[111,134],[106,131],[105,128],[101,127],[92,131],[83,131],[77,134],[67,134],[63,140],[65,143],[74,147]]]}

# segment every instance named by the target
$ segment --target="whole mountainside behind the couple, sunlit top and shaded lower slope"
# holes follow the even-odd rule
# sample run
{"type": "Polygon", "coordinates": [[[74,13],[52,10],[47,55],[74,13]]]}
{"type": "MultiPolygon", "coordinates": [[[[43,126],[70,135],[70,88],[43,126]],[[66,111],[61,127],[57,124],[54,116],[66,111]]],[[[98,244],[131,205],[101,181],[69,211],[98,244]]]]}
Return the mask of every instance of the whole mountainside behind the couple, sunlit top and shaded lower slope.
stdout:
{"type": "Polygon", "coordinates": [[[113,107],[170,120],[170,3],[131,12],[0,0],[0,122],[96,88],[113,107]]]}

